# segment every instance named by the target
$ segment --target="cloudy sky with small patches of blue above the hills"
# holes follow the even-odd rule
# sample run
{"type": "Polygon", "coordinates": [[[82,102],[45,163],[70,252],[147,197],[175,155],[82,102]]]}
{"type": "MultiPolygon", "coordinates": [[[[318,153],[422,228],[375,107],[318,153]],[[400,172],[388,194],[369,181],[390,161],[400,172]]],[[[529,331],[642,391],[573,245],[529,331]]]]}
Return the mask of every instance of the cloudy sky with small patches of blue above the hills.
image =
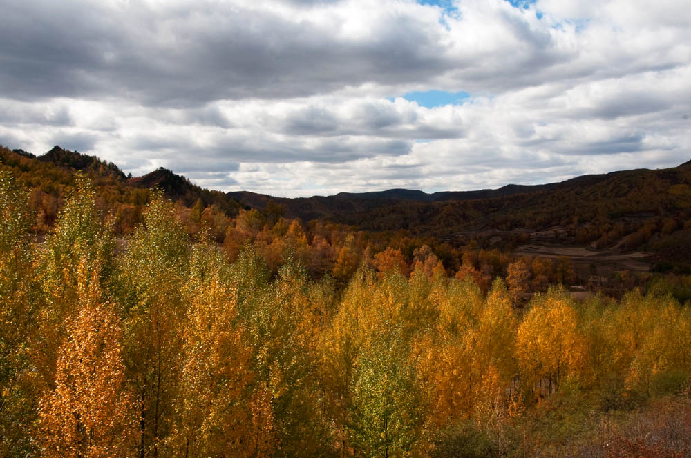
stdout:
{"type": "Polygon", "coordinates": [[[0,144],[282,197],[691,159],[688,0],[0,0],[0,144]]]}

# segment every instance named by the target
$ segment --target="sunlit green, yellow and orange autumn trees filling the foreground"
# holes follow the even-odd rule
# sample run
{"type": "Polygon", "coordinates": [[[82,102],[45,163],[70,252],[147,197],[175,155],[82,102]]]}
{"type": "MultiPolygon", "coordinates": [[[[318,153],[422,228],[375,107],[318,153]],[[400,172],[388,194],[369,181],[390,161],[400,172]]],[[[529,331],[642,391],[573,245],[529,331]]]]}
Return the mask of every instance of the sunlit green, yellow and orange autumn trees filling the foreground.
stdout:
{"type": "Polygon", "coordinates": [[[35,243],[29,199],[0,170],[2,456],[691,454],[691,312],[663,290],[520,310],[352,234],[310,279],[296,221],[274,274],[267,223],[237,253],[191,243],[160,193],[117,241],[86,177],[35,243]]]}

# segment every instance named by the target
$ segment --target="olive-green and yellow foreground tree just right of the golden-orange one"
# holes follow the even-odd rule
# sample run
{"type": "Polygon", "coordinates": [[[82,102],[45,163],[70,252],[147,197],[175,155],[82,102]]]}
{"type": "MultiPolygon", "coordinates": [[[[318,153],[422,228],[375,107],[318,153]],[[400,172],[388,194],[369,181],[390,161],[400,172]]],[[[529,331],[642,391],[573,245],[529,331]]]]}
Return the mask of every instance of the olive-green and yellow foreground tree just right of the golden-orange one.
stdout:
{"type": "Polygon", "coordinates": [[[256,384],[270,393],[274,452],[330,455],[334,441],[321,412],[321,391],[314,389],[319,378],[307,272],[289,259],[270,287],[244,289],[238,288],[238,309],[256,384]]]}

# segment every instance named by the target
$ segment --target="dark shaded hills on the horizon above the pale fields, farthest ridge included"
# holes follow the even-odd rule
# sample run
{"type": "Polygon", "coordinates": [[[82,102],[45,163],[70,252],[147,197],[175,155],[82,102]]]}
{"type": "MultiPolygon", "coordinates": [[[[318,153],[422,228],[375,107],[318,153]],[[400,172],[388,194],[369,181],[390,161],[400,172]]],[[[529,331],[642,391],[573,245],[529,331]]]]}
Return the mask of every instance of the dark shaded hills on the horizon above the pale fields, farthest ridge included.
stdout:
{"type": "Polygon", "coordinates": [[[690,162],[675,168],[583,175],[560,183],[495,190],[427,194],[392,189],[296,199],[241,191],[228,196],[259,209],[274,201],[285,207],[288,216],[304,221],[325,218],[368,230],[405,228],[437,234],[483,228],[540,229],[571,224],[574,217],[584,223],[641,213],[683,221],[691,207],[690,162]]]}

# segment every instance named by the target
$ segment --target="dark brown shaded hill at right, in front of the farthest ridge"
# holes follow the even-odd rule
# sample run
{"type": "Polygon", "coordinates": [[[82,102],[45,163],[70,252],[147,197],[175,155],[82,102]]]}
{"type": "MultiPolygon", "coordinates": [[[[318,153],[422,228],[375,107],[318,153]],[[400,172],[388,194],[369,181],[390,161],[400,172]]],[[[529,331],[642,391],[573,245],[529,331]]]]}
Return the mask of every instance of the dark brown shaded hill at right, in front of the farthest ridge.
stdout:
{"type": "Polygon", "coordinates": [[[398,201],[376,211],[338,215],[337,221],[369,230],[449,233],[468,229],[545,229],[571,224],[611,224],[631,215],[691,217],[691,168],[626,170],[585,175],[561,183],[488,192],[480,199],[448,193],[436,201],[398,201]],[[574,221],[576,221],[574,223],[574,221]]]}

